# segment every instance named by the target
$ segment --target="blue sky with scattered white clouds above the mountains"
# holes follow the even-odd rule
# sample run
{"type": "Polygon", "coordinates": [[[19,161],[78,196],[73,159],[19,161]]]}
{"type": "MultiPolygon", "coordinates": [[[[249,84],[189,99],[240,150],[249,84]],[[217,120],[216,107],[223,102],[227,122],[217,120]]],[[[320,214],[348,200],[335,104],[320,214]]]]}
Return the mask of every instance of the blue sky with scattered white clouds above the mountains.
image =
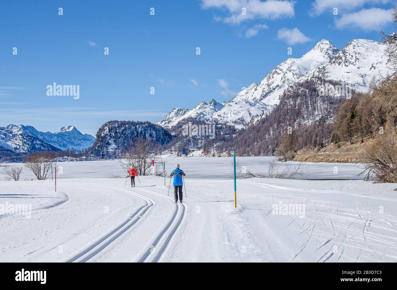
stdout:
{"type": "Polygon", "coordinates": [[[156,122],[174,107],[229,101],[323,38],[339,49],[354,38],[379,41],[381,28],[393,31],[392,3],[7,1],[0,9],[0,126],[55,132],[74,125],[94,135],[108,120],[156,122]],[[54,82],[79,85],[79,99],[47,96],[54,82]]]}

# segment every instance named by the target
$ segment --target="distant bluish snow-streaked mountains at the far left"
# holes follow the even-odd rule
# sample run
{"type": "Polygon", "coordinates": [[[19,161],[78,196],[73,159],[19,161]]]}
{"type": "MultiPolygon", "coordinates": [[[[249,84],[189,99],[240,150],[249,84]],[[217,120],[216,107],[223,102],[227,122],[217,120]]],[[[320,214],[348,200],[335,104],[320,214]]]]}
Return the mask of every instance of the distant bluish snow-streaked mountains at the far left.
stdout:
{"type": "Polygon", "coordinates": [[[0,147],[19,153],[81,150],[92,146],[94,141],[94,136],[82,134],[74,126],[65,126],[55,133],[25,125],[0,127],[0,147]]]}

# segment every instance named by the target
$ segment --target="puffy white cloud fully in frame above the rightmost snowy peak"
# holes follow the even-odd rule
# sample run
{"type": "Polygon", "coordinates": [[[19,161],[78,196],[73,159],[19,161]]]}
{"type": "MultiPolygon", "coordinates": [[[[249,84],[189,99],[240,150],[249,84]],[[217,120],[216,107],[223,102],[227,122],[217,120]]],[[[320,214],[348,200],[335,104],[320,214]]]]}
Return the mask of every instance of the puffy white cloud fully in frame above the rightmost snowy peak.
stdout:
{"type": "Polygon", "coordinates": [[[338,29],[358,28],[365,31],[379,31],[382,25],[391,22],[391,10],[370,8],[342,15],[341,18],[335,20],[335,26],[338,29]]]}

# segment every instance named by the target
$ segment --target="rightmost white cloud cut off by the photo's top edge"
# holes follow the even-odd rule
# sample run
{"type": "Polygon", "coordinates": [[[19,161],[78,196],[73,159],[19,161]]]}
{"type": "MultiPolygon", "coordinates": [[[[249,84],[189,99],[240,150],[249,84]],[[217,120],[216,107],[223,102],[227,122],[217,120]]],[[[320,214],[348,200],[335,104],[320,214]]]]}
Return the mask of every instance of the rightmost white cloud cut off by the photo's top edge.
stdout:
{"type": "Polygon", "coordinates": [[[333,8],[338,8],[338,13],[343,10],[351,11],[362,7],[365,4],[386,4],[390,0],[316,0],[312,4],[310,15],[316,16],[329,10],[333,12],[333,8]]]}

